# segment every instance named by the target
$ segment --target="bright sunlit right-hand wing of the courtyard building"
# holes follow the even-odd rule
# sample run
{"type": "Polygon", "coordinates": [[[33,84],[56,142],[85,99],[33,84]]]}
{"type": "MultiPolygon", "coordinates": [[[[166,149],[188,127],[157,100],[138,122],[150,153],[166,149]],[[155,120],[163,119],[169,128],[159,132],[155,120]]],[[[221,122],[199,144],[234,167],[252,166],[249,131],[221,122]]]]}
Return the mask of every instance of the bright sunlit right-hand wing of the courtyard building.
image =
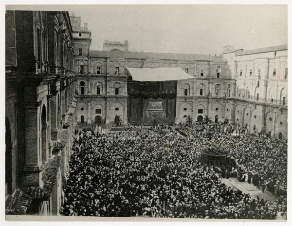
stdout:
{"type": "Polygon", "coordinates": [[[287,139],[288,46],[222,53],[236,79],[236,122],[287,139]]]}

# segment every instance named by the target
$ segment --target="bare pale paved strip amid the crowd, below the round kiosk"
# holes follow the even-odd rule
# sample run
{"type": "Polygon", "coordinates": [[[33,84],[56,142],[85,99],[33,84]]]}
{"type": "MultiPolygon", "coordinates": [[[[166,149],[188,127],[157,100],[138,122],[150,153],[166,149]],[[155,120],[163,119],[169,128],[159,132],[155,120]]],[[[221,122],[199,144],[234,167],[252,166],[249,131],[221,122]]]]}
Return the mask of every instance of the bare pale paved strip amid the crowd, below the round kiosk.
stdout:
{"type": "Polygon", "coordinates": [[[277,198],[269,191],[261,192],[253,184],[247,182],[238,182],[237,178],[222,178],[222,182],[230,188],[241,190],[244,193],[250,194],[251,196],[258,196],[260,199],[276,202],[277,198]]]}

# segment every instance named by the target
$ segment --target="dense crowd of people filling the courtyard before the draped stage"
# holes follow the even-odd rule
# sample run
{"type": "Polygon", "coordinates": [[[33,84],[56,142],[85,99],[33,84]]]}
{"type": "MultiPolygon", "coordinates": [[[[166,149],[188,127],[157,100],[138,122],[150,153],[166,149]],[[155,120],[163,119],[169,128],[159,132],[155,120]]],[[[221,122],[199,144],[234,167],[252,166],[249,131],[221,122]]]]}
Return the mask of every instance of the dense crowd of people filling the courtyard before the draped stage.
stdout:
{"type": "Polygon", "coordinates": [[[259,134],[234,136],[232,140],[228,133],[213,132],[214,136],[210,137],[205,126],[179,130],[185,135],[167,129],[79,134],[73,144],[61,213],[70,216],[275,219],[278,212],[287,212],[285,199],[272,203],[228,188],[221,183],[213,167],[194,158],[201,150],[200,145],[220,141],[230,151],[240,149],[230,153],[234,154],[237,170],[239,167],[254,170],[265,180],[270,176],[276,188],[282,186],[285,190],[287,182],[282,181],[283,172],[280,172],[284,166],[279,160],[281,156],[285,158],[281,141],[269,141],[259,134]],[[268,174],[272,168],[274,171],[268,174]]]}

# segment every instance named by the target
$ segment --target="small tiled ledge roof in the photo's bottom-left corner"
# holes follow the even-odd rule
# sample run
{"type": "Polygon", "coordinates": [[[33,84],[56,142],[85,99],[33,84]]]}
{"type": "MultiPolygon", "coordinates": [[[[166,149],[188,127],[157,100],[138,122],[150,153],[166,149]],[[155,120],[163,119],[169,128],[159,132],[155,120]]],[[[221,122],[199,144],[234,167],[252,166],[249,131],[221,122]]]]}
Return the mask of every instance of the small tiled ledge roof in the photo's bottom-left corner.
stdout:
{"type": "Polygon", "coordinates": [[[13,195],[8,195],[5,201],[6,214],[24,215],[31,205],[32,197],[19,188],[13,195]]]}

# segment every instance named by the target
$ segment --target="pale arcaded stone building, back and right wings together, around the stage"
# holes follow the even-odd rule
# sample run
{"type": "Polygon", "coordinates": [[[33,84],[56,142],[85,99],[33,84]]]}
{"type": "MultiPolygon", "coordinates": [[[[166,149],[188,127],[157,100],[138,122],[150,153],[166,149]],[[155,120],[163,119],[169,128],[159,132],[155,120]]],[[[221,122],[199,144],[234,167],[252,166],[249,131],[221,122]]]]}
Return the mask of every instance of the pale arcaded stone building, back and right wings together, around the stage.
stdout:
{"type": "MultiPolygon", "coordinates": [[[[79,94],[75,116],[79,124],[91,124],[101,116],[109,125],[115,115],[121,115],[124,123],[145,123],[132,117],[127,68],[178,67],[193,78],[177,81],[174,120],[162,123],[184,122],[188,114],[201,121],[207,115],[214,122],[235,123],[247,126],[249,131],[287,139],[287,45],[257,50],[227,46],[213,57],[116,49],[89,51],[86,59],[75,62],[75,67],[79,69],[81,64],[87,68],[83,73],[77,70],[75,77],[79,94]]],[[[144,119],[143,113],[141,117],[144,119]]]]}

